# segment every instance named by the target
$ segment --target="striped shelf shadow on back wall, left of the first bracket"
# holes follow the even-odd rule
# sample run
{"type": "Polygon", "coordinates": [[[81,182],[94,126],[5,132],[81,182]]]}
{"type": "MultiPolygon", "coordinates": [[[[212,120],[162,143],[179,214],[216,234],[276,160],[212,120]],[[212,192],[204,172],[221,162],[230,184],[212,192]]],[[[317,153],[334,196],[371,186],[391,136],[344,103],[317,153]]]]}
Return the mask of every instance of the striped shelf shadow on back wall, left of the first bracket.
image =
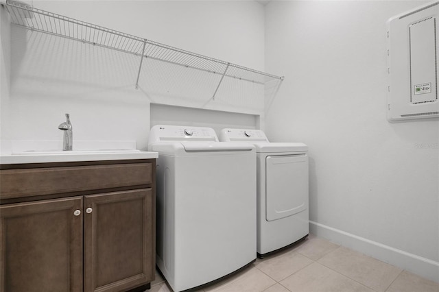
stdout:
{"type": "Polygon", "coordinates": [[[135,56],[16,25],[11,32],[12,91],[59,98],[130,86],[134,90],[139,59],[135,56]]]}

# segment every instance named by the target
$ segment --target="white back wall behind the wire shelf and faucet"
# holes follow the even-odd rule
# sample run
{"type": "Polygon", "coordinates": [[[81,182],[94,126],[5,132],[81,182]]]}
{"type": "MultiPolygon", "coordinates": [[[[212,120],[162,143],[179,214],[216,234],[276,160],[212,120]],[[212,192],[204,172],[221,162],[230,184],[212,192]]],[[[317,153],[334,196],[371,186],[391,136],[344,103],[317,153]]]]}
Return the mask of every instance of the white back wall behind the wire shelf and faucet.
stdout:
{"type": "MultiPolygon", "coordinates": [[[[264,11],[254,1],[28,2],[73,19],[264,69],[264,11]]],[[[3,30],[9,27],[3,25],[8,24],[3,17],[8,14],[3,6],[0,9],[2,60],[11,63],[10,71],[3,73],[3,66],[1,69],[0,105],[2,110],[7,109],[1,118],[2,141],[60,141],[58,125],[69,112],[74,141],[137,141],[137,148],[145,149],[151,102],[261,112],[263,86],[254,91],[244,85],[243,90],[256,93],[257,106],[247,99],[228,99],[224,86],[217,100],[211,101],[212,88],[206,89],[203,84],[215,84],[215,80],[197,79],[199,73],[192,73],[191,84],[176,84],[175,80],[184,80],[189,73],[173,75],[150,60],[143,62],[140,88],[135,90],[140,62],[137,56],[16,25],[11,25],[9,40],[9,30],[3,30]],[[3,90],[4,84],[10,85],[10,91],[3,90]]]]}

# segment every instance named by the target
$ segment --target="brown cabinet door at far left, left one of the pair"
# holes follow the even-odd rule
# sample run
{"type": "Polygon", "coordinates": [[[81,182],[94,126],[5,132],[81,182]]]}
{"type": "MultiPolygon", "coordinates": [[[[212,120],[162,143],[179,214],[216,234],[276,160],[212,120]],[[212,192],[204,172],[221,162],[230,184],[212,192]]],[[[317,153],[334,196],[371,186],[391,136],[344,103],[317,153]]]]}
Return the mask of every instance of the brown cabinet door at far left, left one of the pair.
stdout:
{"type": "Polygon", "coordinates": [[[82,291],[81,210],[82,197],[0,206],[1,292],[82,291]]]}

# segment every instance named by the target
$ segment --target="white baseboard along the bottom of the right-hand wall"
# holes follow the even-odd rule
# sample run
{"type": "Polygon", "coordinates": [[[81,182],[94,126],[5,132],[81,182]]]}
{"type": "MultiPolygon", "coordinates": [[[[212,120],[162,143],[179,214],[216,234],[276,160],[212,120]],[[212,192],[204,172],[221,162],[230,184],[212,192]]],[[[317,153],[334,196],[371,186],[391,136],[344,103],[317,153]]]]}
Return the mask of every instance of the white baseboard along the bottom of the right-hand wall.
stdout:
{"type": "Polygon", "coordinates": [[[328,239],[333,243],[338,243],[345,247],[349,247],[352,250],[361,252],[372,258],[377,258],[385,263],[394,265],[401,269],[405,269],[418,276],[439,282],[439,263],[422,256],[416,256],[398,250],[388,245],[383,245],[375,241],[370,241],[363,237],[344,232],[323,224],[309,221],[309,232],[320,236],[324,239],[328,239]]]}

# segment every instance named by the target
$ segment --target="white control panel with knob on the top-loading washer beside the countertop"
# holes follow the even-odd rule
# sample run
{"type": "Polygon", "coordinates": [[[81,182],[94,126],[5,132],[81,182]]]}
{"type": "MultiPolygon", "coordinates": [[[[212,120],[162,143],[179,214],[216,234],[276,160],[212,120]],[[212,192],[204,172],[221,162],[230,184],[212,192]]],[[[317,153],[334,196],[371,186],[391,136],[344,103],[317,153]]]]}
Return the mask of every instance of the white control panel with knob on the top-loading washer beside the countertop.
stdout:
{"type": "Polygon", "coordinates": [[[211,127],[191,127],[180,125],[154,125],[151,128],[149,144],[163,141],[213,141],[217,134],[211,127]]]}

